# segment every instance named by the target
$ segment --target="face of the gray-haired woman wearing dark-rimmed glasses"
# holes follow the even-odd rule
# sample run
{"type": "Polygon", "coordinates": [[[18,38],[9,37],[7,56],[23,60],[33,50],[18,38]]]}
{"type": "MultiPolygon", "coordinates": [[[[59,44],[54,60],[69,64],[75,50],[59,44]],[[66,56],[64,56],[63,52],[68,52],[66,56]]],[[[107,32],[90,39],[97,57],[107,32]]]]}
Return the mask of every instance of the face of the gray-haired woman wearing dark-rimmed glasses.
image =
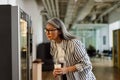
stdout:
{"type": "Polygon", "coordinates": [[[45,34],[48,40],[57,41],[60,39],[59,35],[61,34],[61,32],[57,28],[55,28],[53,25],[48,23],[46,25],[45,34]]]}

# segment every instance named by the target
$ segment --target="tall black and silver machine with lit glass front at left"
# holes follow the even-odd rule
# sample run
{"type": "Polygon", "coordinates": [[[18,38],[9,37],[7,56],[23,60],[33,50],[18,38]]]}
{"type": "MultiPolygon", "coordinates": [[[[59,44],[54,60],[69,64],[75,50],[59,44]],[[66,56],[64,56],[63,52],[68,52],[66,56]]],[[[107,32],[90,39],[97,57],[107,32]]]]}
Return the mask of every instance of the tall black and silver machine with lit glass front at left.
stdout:
{"type": "Polygon", "coordinates": [[[0,5],[1,80],[31,80],[31,22],[18,6],[0,5]]]}

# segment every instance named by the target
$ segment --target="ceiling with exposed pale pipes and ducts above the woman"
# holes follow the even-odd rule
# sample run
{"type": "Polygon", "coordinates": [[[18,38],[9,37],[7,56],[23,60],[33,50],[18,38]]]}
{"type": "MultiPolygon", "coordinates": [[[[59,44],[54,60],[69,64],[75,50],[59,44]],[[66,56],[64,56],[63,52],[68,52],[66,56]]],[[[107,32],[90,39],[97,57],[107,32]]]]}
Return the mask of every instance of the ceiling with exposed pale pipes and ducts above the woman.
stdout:
{"type": "Polygon", "coordinates": [[[41,0],[47,18],[59,17],[68,28],[74,24],[108,23],[108,15],[120,0],[41,0]]]}

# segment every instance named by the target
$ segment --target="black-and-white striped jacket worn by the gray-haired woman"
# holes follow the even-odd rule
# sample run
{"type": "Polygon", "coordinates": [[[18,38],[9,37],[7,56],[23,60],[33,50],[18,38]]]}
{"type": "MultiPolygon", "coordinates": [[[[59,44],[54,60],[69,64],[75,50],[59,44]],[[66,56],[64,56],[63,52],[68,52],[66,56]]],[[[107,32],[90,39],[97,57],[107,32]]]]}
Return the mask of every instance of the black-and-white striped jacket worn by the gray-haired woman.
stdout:
{"type": "MultiPolygon", "coordinates": [[[[66,66],[75,65],[77,68],[77,71],[66,74],[67,80],[96,80],[92,73],[92,64],[81,41],[63,40],[62,48],[65,51],[66,66]]],[[[52,41],[50,53],[54,59],[57,58],[57,52],[56,43],[52,41]]]]}

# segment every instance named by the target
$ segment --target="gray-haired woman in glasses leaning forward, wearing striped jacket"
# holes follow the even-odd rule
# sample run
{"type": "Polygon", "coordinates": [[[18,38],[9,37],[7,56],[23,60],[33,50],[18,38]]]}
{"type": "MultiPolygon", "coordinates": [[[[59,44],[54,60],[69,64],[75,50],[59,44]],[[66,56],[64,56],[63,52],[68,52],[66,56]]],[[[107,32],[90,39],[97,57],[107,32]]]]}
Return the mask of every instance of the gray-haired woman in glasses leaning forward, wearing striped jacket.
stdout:
{"type": "Polygon", "coordinates": [[[83,44],[66,30],[60,19],[48,20],[45,33],[51,40],[50,53],[55,63],[63,63],[63,67],[53,70],[54,77],[66,74],[66,80],[96,80],[83,44]]]}

